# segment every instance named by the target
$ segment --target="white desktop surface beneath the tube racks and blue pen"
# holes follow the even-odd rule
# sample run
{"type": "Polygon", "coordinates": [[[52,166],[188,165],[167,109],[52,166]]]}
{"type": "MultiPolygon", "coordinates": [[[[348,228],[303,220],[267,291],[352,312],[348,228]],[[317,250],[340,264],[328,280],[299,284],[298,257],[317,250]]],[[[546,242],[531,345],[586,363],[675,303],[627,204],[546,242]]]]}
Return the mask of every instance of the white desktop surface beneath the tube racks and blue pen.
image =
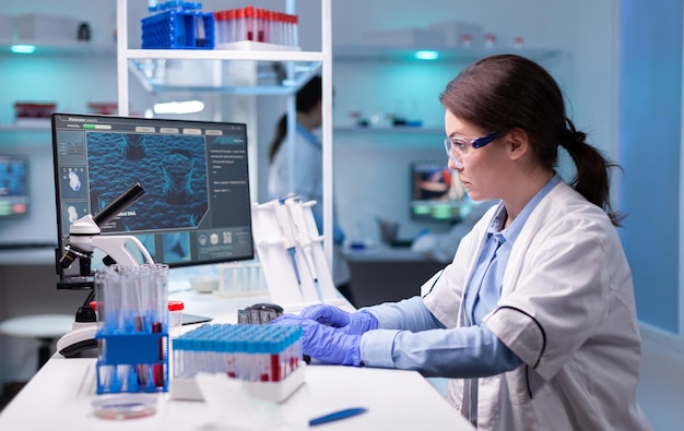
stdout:
{"type": "MultiPolygon", "coordinates": [[[[263,299],[226,300],[192,292],[172,297],[186,300],[188,312],[216,315],[216,322],[235,322],[237,308],[263,299]]],[[[170,399],[168,393],[152,396],[157,397],[157,411],[151,417],[127,421],[99,419],[92,407],[98,398],[95,359],[64,359],[56,355],[0,414],[0,430],[222,429],[205,403],[170,399]]],[[[304,385],[279,408],[283,416],[303,420],[349,407],[366,407],[368,411],[318,429],[473,430],[437,390],[413,371],[308,366],[304,385]]]]}

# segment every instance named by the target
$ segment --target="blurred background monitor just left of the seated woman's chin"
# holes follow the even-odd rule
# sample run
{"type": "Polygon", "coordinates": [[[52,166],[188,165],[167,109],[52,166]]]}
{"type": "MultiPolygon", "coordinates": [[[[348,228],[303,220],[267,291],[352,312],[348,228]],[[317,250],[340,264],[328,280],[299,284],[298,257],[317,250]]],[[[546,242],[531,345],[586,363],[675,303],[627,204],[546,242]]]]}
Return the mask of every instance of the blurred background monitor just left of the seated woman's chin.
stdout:
{"type": "Polygon", "coordinates": [[[470,209],[470,200],[456,171],[445,161],[411,164],[411,218],[425,222],[459,222],[470,209]]]}

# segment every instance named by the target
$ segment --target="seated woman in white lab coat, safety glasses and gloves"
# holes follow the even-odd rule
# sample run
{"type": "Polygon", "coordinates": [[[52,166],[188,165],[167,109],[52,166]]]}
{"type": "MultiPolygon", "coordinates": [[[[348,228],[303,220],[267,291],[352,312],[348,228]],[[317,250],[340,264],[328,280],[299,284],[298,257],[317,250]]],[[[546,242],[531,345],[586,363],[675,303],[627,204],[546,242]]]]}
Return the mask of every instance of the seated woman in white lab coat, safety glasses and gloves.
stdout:
{"type": "Polygon", "coordinates": [[[421,297],[356,313],[314,306],[275,323],[302,325],[304,352],[323,362],[451,378],[449,402],[480,430],[650,429],[612,165],[522,57],[476,61],[440,103],[449,167],[473,200],[498,205],[421,297]],[[558,145],[576,165],[569,184],[554,170],[558,145]]]}

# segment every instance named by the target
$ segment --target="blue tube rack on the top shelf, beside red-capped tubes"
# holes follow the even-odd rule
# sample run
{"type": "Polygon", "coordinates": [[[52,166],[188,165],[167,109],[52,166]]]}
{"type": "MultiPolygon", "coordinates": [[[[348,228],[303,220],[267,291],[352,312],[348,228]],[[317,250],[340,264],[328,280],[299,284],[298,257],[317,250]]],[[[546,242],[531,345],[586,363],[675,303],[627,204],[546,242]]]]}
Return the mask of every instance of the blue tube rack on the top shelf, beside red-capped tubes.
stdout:
{"type": "Polygon", "coordinates": [[[146,16],[142,22],[143,49],[214,49],[215,20],[212,12],[172,10],[146,16]],[[198,37],[198,24],[204,38],[198,37]]]}

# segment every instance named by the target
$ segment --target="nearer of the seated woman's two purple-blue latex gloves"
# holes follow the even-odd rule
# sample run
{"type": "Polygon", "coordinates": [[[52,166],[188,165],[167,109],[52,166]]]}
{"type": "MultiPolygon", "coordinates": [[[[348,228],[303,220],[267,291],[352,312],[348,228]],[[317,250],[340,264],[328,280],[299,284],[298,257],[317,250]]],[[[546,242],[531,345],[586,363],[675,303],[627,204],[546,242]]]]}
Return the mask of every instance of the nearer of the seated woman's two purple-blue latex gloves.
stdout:
{"type": "Polygon", "coordinates": [[[274,325],[302,326],[302,352],[326,363],[361,366],[361,335],[350,335],[310,319],[284,314],[274,325]]]}

